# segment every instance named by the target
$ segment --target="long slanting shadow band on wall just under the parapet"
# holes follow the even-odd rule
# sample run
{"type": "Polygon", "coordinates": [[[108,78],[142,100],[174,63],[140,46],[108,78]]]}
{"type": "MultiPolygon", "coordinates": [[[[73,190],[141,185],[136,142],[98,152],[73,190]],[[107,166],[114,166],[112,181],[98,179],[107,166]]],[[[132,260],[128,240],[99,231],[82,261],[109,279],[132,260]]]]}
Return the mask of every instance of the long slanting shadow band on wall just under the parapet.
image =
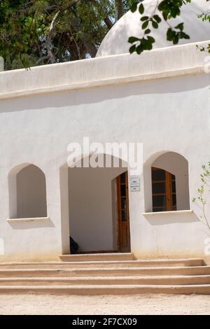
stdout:
{"type": "Polygon", "coordinates": [[[81,104],[94,104],[109,99],[123,99],[141,94],[176,94],[190,90],[202,89],[209,86],[209,75],[179,77],[177,83],[170,79],[158,79],[143,81],[141,83],[128,83],[126,85],[106,86],[87,90],[69,90],[54,94],[39,94],[36,96],[1,100],[0,113],[39,110],[60,109],[62,107],[78,106],[81,104]]]}

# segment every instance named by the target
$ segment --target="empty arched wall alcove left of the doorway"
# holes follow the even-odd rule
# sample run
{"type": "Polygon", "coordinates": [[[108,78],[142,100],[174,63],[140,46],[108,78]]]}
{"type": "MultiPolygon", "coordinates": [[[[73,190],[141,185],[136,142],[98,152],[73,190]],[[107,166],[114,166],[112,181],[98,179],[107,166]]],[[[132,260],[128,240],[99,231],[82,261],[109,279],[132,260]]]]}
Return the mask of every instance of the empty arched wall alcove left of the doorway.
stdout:
{"type": "Polygon", "coordinates": [[[45,174],[29,163],[8,175],[10,218],[47,217],[45,174]]]}

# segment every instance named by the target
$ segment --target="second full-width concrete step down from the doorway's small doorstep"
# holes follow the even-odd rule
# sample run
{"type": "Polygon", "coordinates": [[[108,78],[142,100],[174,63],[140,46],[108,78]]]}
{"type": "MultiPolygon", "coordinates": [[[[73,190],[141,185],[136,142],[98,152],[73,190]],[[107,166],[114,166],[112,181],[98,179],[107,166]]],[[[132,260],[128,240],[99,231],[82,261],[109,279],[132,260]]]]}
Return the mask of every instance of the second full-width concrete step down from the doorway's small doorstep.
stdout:
{"type": "Polygon", "coordinates": [[[210,275],[210,266],[0,269],[0,277],[210,275]]]}

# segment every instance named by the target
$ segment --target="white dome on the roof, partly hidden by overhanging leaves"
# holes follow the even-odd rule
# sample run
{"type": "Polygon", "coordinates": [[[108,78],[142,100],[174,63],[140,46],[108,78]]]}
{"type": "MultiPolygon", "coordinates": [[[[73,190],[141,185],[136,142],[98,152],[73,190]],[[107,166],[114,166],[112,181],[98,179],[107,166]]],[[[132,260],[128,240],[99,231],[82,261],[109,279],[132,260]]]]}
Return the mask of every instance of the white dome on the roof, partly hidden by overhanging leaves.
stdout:
{"type": "MultiPolygon", "coordinates": [[[[157,4],[157,0],[144,0],[143,3],[145,8],[143,16],[151,16],[157,4]]],[[[176,18],[176,20],[170,20],[172,26],[184,22],[184,31],[190,35],[190,40],[182,39],[179,44],[207,41],[210,39],[210,23],[202,22],[200,18],[197,18],[197,14],[207,12],[208,10],[210,10],[210,1],[192,0],[191,3],[183,6],[181,16],[176,18]]],[[[129,11],[120,18],[120,20],[116,22],[116,25],[106,34],[97,52],[97,57],[129,52],[130,43],[127,42],[128,38],[130,36],[141,37],[143,34],[140,18],[139,10],[135,13],[129,11]]],[[[172,42],[167,41],[167,29],[168,25],[163,20],[158,29],[153,29],[153,27],[151,27],[151,36],[154,36],[156,41],[153,48],[164,48],[173,45],[172,42]]]]}

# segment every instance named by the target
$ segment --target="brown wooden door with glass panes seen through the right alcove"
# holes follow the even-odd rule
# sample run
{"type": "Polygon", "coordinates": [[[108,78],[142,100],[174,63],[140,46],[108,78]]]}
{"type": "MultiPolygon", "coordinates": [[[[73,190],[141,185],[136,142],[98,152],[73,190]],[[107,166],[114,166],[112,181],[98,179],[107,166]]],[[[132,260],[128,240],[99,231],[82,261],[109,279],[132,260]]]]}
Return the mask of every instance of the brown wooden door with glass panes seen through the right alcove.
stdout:
{"type": "Polygon", "coordinates": [[[153,212],[176,211],[176,177],[163,169],[152,168],[153,212]]]}

